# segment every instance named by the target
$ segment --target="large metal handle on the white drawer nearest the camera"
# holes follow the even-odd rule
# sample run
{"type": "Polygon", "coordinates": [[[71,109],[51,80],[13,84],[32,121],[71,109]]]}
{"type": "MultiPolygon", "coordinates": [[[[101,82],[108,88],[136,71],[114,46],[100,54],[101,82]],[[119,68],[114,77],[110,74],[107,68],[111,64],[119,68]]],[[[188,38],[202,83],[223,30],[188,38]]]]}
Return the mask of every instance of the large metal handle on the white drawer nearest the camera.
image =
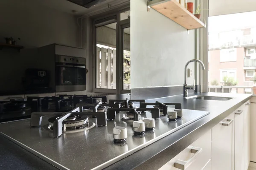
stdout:
{"type": "Polygon", "coordinates": [[[192,164],[193,161],[195,161],[196,157],[203,151],[202,148],[200,147],[192,147],[190,152],[191,153],[195,153],[195,155],[193,155],[189,160],[187,161],[183,161],[178,159],[175,164],[174,167],[180,169],[180,170],[186,170],[186,168],[189,167],[190,164],[192,164]]]}

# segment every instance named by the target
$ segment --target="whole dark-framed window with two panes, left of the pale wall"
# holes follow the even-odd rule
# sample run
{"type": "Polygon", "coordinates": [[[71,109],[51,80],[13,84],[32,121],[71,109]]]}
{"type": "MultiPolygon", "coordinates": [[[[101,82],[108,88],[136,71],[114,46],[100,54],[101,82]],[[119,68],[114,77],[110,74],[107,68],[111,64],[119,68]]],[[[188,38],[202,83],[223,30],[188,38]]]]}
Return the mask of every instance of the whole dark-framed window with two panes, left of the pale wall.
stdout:
{"type": "Polygon", "coordinates": [[[94,23],[93,92],[131,92],[130,11],[119,11],[94,23]]]}

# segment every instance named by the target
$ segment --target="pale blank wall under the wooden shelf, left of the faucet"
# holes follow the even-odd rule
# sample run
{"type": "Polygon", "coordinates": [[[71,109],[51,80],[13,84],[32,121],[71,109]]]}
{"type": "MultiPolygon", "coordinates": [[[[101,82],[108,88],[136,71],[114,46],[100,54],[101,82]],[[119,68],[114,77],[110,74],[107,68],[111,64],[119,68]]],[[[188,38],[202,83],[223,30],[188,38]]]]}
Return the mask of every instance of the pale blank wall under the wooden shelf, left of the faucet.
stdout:
{"type": "Polygon", "coordinates": [[[147,0],[131,0],[131,88],[183,85],[184,66],[195,58],[195,31],[187,34],[169,18],[146,9],[147,0]]]}

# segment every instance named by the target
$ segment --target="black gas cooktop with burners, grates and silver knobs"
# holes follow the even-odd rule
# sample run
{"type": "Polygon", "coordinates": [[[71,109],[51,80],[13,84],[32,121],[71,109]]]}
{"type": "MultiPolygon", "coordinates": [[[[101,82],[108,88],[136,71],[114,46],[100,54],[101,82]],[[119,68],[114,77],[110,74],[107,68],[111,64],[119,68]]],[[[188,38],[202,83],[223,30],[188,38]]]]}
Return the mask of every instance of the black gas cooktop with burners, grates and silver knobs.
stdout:
{"type": "Polygon", "coordinates": [[[161,105],[151,111],[136,105],[128,108],[128,112],[125,108],[110,108],[108,115],[102,108],[102,113],[86,113],[88,110],[81,107],[44,116],[32,113],[31,119],[1,123],[0,135],[60,169],[103,169],[209,114],[175,108],[167,108],[167,112],[162,108],[160,113],[161,105]],[[182,116],[174,116],[177,111],[182,116]],[[150,119],[153,116],[155,119],[150,119]],[[146,121],[154,127],[145,128],[149,125],[146,121]],[[37,125],[41,126],[34,127],[37,125]],[[144,131],[140,130],[143,128],[144,131]]]}

